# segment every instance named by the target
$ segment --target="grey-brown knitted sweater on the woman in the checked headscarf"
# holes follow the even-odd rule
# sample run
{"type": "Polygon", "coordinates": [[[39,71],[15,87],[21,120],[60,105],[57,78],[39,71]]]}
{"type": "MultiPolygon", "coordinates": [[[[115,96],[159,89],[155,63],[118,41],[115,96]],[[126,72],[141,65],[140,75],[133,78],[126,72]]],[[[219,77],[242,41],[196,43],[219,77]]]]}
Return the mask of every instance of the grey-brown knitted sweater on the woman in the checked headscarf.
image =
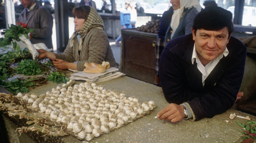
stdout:
{"type": "Polygon", "coordinates": [[[70,40],[71,39],[69,39],[68,45],[62,54],[54,53],[56,58],[63,59],[67,62],[77,61],[76,69],[78,71],[85,69],[85,62],[101,64],[102,61],[108,61],[110,67],[116,67],[116,60],[110,47],[108,37],[102,29],[92,28],[85,35],[80,55],[78,54],[79,42],[77,37],[75,37],[72,47],[69,46],[70,40]]]}

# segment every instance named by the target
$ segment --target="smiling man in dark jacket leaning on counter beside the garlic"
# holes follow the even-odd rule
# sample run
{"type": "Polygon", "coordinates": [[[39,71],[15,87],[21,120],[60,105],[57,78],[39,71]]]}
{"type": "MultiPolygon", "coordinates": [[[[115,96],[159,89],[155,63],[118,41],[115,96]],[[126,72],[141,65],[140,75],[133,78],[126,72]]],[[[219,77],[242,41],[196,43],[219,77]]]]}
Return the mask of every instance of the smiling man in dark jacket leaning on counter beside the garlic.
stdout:
{"type": "Polygon", "coordinates": [[[246,47],[231,37],[232,13],[216,6],[194,19],[192,34],[171,40],[160,56],[159,74],[168,104],[158,119],[212,118],[239,98],[246,47]]]}

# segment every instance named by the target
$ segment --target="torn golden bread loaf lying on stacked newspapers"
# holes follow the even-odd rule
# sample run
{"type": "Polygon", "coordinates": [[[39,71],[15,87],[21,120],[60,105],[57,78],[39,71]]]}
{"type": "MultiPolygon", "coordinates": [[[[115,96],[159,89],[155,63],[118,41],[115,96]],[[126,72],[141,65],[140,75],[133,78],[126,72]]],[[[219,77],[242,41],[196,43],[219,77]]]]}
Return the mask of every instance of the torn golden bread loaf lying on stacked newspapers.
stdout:
{"type": "Polygon", "coordinates": [[[84,66],[86,67],[84,69],[86,73],[102,73],[106,71],[106,68],[101,64],[85,62],[84,66]]]}

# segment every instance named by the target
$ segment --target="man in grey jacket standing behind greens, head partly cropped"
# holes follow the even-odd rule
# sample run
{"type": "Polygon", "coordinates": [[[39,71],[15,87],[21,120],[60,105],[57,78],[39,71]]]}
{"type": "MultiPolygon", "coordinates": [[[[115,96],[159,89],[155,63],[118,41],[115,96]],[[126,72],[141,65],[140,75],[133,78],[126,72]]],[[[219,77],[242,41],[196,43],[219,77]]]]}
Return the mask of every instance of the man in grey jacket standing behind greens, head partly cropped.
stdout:
{"type": "Polygon", "coordinates": [[[31,43],[44,43],[48,49],[53,50],[53,17],[43,6],[39,6],[34,0],[20,0],[25,7],[17,22],[28,24],[27,28],[34,29],[31,33],[31,43]]]}

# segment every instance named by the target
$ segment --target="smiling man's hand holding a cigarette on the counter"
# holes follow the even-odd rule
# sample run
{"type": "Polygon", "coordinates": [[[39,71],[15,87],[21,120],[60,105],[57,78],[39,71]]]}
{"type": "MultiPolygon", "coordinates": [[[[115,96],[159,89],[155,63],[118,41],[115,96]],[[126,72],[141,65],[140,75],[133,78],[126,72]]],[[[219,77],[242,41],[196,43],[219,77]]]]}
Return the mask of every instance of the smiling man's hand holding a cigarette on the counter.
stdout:
{"type": "Polygon", "coordinates": [[[181,105],[170,103],[157,113],[159,120],[165,119],[171,122],[181,121],[185,116],[184,108],[181,105]]]}

